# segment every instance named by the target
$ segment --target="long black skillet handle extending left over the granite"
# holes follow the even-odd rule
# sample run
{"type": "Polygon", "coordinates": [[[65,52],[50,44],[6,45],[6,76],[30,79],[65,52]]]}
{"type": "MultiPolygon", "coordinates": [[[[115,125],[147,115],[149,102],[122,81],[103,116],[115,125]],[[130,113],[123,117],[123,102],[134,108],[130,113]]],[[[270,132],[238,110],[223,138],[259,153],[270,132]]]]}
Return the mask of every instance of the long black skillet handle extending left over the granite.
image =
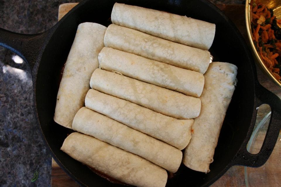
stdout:
{"type": "Polygon", "coordinates": [[[0,28],[0,46],[3,46],[28,63],[33,74],[33,67],[42,51],[47,32],[39,34],[19,34],[0,28]]]}

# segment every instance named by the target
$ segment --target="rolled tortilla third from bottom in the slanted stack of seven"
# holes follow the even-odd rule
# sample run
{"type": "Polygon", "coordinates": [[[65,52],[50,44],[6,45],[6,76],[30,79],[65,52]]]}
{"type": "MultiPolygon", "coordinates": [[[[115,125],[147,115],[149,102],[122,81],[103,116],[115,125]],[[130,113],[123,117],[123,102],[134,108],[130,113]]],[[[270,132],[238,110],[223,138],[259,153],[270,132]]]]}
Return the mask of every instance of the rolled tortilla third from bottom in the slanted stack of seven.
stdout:
{"type": "Polygon", "coordinates": [[[85,105],[179,150],[184,149],[191,138],[193,120],[177,120],[94,89],[88,91],[85,105]]]}

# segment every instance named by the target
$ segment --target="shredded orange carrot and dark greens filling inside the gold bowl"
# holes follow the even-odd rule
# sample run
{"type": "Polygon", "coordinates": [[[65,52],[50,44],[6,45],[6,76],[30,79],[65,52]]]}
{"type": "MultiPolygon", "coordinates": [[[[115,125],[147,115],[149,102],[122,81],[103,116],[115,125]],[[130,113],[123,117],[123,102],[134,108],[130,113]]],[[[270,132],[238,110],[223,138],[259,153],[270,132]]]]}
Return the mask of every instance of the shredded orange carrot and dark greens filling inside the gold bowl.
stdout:
{"type": "Polygon", "coordinates": [[[252,34],[256,49],[263,63],[276,79],[280,80],[281,68],[281,19],[277,20],[273,10],[261,4],[260,0],[250,3],[252,34]],[[278,24],[278,25],[277,25],[278,24]]]}

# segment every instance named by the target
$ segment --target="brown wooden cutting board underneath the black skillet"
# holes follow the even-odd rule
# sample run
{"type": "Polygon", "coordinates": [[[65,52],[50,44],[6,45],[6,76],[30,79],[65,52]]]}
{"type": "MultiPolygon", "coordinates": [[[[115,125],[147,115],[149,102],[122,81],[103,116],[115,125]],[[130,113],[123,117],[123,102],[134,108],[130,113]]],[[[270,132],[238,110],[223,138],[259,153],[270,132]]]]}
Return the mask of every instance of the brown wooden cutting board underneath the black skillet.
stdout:
{"type": "MultiPolygon", "coordinates": [[[[78,3],[66,3],[61,4],[59,6],[59,15],[58,20],[60,20],[68,11],[70,11],[74,6],[76,6],[78,3]]],[[[241,34],[245,39],[247,39],[247,33],[246,33],[246,25],[245,25],[245,16],[244,16],[244,5],[217,5],[218,8],[220,8],[231,20],[234,22],[234,24],[237,26],[241,34]]],[[[265,80],[266,81],[266,80],[265,80]]],[[[271,84],[271,83],[269,83],[271,84]]],[[[277,90],[274,91],[275,94],[277,94],[279,97],[281,97],[281,91],[277,90]]],[[[257,122],[260,122],[265,114],[267,114],[270,111],[270,108],[266,105],[262,105],[258,110],[258,118],[257,122]]],[[[264,134],[261,134],[258,136],[260,137],[259,141],[263,141],[264,134]]],[[[258,148],[256,148],[258,149],[258,148]]],[[[278,154],[273,154],[270,157],[271,162],[267,166],[268,168],[275,168],[274,172],[275,174],[280,174],[279,179],[281,179],[281,166],[276,167],[274,164],[275,160],[280,160],[281,158],[281,150],[279,147],[275,147],[275,152],[278,154]]],[[[270,169],[268,169],[271,171],[270,169]]],[[[267,183],[266,185],[263,184],[263,176],[271,176],[273,173],[267,173],[268,170],[255,170],[248,169],[248,172],[251,172],[251,174],[254,174],[255,180],[256,180],[256,186],[278,186],[274,180],[272,180],[272,183],[267,183]],[[260,181],[259,181],[260,180],[260,181]]],[[[78,187],[79,185],[70,177],[68,176],[60,167],[57,165],[57,163],[52,159],[52,187],[78,187]]],[[[245,177],[244,177],[244,167],[243,166],[234,166],[231,167],[220,179],[218,179],[211,187],[221,187],[221,186],[227,186],[227,187],[244,187],[245,185],[245,177]]]]}

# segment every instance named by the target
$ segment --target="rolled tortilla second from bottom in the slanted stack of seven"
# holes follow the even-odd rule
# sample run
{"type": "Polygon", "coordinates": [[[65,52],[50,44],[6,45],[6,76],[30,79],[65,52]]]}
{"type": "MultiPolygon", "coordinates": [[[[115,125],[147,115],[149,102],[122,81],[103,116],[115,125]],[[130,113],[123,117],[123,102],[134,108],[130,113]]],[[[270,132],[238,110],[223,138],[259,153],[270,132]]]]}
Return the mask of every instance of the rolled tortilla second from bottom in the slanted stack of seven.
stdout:
{"type": "Polygon", "coordinates": [[[182,153],[179,149],[86,107],[78,110],[72,128],[139,155],[172,173],[181,164],[182,153]]]}

